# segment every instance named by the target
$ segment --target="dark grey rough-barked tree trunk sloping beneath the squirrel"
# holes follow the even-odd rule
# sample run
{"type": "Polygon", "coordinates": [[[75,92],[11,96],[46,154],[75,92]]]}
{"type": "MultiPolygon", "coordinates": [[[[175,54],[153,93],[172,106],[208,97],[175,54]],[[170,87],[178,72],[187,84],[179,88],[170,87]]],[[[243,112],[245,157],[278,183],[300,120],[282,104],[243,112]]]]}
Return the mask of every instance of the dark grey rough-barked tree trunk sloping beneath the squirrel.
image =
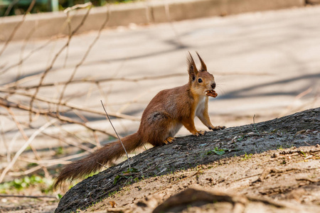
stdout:
{"type": "MultiPolygon", "coordinates": [[[[63,196],[55,212],[85,209],[128,185],[128,177],[130,180],[139,180],[195,168],[197,165],[207,165],[233,156],[247,156],[250,153],[277,149],[281,151],[282,148],[299,148],[306,145],[316,146],[320,139],[319,112],[320,108],[309,109],[258,124],[210,131],[200,137],[176,138],[174,143],[150,148],[130,158],[134,173],[126,173],[129,170],[126,160],[78,183],[63,196]]],[[[297,153],[311,151],[312,149],[296,150],[297,153]]],[[[283,153],[277,153],[281,154],[283,153]]],[[[277,155],[274,157],[277,158],[277,155]]],[[[274,171],[279,172],[277,169],[274,171]]],[[[272,170],[269,173],[272,173],[272,170]]],[[[257,182],[262,182],[265,177],[261,175],[257,178],[260,178],[257,182]]]]}

